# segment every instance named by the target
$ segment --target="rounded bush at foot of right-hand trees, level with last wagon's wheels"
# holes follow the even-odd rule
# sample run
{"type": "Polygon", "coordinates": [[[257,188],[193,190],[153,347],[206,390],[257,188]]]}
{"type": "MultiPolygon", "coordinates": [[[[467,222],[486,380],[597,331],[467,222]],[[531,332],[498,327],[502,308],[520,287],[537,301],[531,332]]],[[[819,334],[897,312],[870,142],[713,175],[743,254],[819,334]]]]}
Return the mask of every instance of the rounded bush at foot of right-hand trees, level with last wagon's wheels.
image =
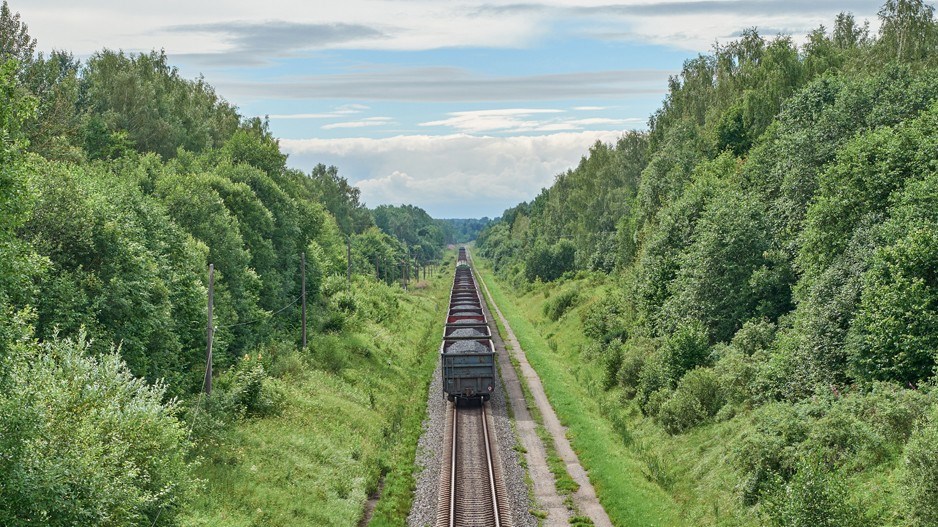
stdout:
{"type": "Polygon", "coordinates": [[[681,379],[671,398],[661,405],[658,420],[669,434],[679,434],[716,415],[724,402],[713,370],[697,368],[681,379]]]}

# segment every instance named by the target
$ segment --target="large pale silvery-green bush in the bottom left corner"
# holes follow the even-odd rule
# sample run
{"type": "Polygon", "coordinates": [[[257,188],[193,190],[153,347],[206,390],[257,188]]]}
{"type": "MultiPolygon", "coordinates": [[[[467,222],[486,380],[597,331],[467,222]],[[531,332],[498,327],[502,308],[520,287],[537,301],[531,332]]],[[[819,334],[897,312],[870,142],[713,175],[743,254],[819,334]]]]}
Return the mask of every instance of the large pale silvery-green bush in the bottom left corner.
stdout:
{"type": "Polygon", "coordinates": [[[174,525],[195,486],[162,385],[84,335],[20,342],[0,363],[0,525],[174,525]]]}

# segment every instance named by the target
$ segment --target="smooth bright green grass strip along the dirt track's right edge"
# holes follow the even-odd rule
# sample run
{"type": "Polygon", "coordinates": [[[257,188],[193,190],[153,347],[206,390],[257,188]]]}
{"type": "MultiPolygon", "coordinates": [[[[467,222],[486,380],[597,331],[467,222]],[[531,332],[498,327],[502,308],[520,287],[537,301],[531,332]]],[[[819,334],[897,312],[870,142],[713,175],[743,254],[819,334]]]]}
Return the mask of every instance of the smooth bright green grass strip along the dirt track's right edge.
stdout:
{"type": "Polygon", "coordinates": [[[543,323],[543,295],[517,298],[506,294],[507,288],[493,279],[484,262],[479,270],[537,370],[560,421],[569,428],[571,444],[612,521],[620,526],[683,524],[668,494],[643,475],[644,463],[628,433],[603,419],[601,406],[609,405],[595,397],[600,390],[588,365],[579,359],[579,317],[568,314],[556,324],[543,323]]]}

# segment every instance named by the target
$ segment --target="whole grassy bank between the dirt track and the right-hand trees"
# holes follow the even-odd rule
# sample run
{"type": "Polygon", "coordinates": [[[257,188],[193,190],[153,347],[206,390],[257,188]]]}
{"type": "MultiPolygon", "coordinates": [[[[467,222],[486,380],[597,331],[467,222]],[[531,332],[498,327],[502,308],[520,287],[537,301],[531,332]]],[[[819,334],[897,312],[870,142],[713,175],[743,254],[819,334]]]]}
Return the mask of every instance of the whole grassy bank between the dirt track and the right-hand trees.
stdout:
{"type": "MultiPolygon", "coordinates": [[[[477,259],[478,262],[478,259],[477,259]]],[[[698,426],[671,436],[621,390],[603,391],[597,363],[584,360],[581,316],[612,279],[585,279],[535,287],[519,294],[493,279],[482,266],[486,283],[508,317],[528,360],[538,371],[547,395],[581,461],[590,470],[600,500],[618,525],[761,525],[758,508],[745,507],[737,487],[740,475],[732,456],[738,439],[753,428],[752,416],[698,426]],[[557,322],[543,315],[549,294],[577,288],[580,300],[557,322]],[[654,484],[653,489],[649,486],[654,484]],[[637,505],[636,505],[637,504],[637,505]],[[668,515],[659,512],[668,510],[668,515]]],[[[853,499],[862,502],[875,524],[902,524],[896,511],[898,452],[847,481],[853,499]]]]}

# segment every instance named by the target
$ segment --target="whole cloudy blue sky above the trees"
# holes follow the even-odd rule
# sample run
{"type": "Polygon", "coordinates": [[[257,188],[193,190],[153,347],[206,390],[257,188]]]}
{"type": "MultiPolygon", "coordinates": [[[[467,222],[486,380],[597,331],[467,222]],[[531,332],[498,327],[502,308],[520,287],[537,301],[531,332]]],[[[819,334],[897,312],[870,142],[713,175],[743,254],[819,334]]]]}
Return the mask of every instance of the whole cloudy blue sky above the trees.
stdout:
{"type": "Polygon", "coordinates": [[[40,50],[164,49],[362,201],[496,217],[647,128],[683,62],[881,0],[9,0],[40,50]]]}

